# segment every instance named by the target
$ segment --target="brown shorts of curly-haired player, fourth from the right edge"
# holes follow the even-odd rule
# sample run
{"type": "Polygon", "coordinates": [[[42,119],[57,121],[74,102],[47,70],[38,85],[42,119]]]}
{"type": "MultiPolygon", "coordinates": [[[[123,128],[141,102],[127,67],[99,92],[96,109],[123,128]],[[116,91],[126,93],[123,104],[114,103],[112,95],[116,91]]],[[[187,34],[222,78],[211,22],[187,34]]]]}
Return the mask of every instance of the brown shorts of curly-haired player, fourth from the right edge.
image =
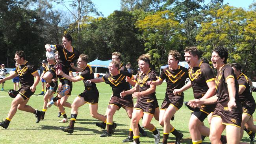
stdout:
{"type": "Polygon", "coordinates": [[[183,105],[183,99],[176,99],[176,98],[166,98],[163,100],[163,103],[161,105],[161,110],[165,110],[169,107],[169,105],[173,105],[177,109],[177,111],[182,107],[183,105]]]}

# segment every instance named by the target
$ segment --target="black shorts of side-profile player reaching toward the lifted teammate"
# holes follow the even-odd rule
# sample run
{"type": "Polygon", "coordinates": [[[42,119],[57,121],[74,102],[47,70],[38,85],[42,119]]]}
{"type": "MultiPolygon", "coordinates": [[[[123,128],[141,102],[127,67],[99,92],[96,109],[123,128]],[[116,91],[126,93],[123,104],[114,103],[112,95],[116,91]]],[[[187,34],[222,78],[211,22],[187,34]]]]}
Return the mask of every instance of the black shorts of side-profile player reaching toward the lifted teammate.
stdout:
{"type": "Polygon", "coordinates": [[[88,104],[97,104],[99,101],[98,89],[84,90],[83,93],[78,95],[84,98],[84,102],[88,104]]]}

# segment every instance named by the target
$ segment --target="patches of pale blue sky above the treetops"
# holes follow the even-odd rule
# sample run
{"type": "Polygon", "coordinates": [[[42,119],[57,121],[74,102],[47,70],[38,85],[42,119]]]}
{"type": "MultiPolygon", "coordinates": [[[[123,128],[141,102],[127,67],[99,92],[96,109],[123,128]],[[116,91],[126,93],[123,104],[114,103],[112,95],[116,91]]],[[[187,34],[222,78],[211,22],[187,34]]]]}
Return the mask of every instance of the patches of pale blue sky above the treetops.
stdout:
{"type": "MultiPolygon", "coordinates": [[[[98,11],[101,11],[104,17],[108,17],[113,11],[120,10],[121,0],[92,0],[98,11]]],[[[210,2],[210,0],[205,0],[205,4],[210,2]]],[[[252,4],[253,0],[224,0],[223,4],[229,4],[234,7],[242,7],[248,9],[249,5],[252,4]]]]}

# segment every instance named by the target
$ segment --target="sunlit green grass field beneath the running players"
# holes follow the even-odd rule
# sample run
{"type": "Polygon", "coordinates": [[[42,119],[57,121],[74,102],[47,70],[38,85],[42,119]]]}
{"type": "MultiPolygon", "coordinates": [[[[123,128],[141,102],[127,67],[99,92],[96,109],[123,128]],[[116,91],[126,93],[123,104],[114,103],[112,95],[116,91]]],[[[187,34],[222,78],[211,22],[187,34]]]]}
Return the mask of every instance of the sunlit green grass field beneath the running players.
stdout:
{"type": "MultiPolygon", "coordinates": [[[[1,85],[2,86],[2,85],[1,85]]],[[[98,103],[98,113],[104,114],[109,102],[110,95],[112,93],[111,87],[105,83],[97,83],[98,90],[100,92],[99,103],[98,103]]],[[[5,119],[9,108],[11,106],[11,101],[13,100],[7,94],[7,90],[13,89],[13,83],[11,80],[6,81],[4,86],[4,91],[0,91],[0,119],[5,119]]],[[[73,83],[72,96],[68,99],[68,102],[72,103],[74,98],[80,94],[84,89],[82,81],[73,83]]],[[[161,106],[163,98],[165,96],[166,83],[158,86],[156,89],[156,96],[158,98],[158,103],[161,106]]],[[[43,96],[39,96],[41,92],[41,82],[37,86],[35,95],[29,100],[28,105],[35,109],[42,110],[43,108],[43,96]]],[[[256,93],[254,92],[254,97],[256,93]]],[[[193,98],[192,89],[185,92],[185,101],[191,100],[193,98]]],[[[68,117],[70,116],[70,109],[66,108],[66,113],[68,117]]],[[[57,117],[58,109],[52,106],[47,110],[45,114],[45,120],[40,121],[38,124],[35,123],[36,118],[32,113],[27,113],[24,111],[17,111],[8,129],[0,128],[0,143],[1,144],[16,144],[16,143],[85,143],[85,144],[121,144],[122,140],[128,136],[128,129],[130,124],[130,119],[128,118],[124,109],[120,109],[114,115],[113,121],[117,123],[117,128],[112,137],[101,138],[102,129],[95,126],[95,122],[98,120],[92,118],[89,113],[89,107],[87,104],[83,105],[79,109],[79,114],[75,123],[75,130],[72,134],[64,133],[59,129],[61,126],[68,126],[69,123],[58,123],[62,118],[57,117]]],[[[253,115],[256,117],[255,114],[253,115]]],[[[186,107],[182,107],[176,114],[174,121],[171,124],[180,132],[184,134],[184,139],[182,144],[191,144],[191,138],[188,130],[188,122],[190,117],[190,111],[186,107]]],[[[205,125],[208,125],[207,120],[205,120],[205,125]]],[[[156,126],[161,133],[161,140],[163,136],[163,128],[158,124],[154,118],[152,124],[156,126]]],[[[148,137],[141,137],[141,143],[154,143],[153,135],[150,131],[146,130],[148,137]]],[[[245,133],[242,139],[243,142],[250,142],[249,136],[245,133]]],[[[175,143],[175,137],[170,134],[169,143],[175,143]]],[[[209,144],[209,138],[205,138],[203,144],[209,144]]]]}

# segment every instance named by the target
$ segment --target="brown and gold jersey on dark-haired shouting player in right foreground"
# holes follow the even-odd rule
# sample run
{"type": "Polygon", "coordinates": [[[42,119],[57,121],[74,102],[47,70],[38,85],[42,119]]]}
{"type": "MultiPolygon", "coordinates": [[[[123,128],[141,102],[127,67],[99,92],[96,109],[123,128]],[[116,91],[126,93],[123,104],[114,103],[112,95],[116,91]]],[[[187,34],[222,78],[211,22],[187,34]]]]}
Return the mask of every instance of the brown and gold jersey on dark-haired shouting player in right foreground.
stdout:
{"type": "Polygon", "coordinates": [[[238,108],[241,108],[241,102],[240,102],[239,96],[238,96],[238,82],[237,82],[234,70],[229,65],[224,65],[221,68],[221,70],[219,70],[219,72],[216,76],[216,79],[215,79],[215,88],[216,88],[216,94],[218,97],[217,103],[221,104],[223,107],[226,107],[226,109],[227,109],[228,102],[229,102],[229,94],[228,94],[228,86],[227,86],[226,80],[228,78],[234,78],[234,80],[235,80],[236,104],[237,104],[238,108]]]}

